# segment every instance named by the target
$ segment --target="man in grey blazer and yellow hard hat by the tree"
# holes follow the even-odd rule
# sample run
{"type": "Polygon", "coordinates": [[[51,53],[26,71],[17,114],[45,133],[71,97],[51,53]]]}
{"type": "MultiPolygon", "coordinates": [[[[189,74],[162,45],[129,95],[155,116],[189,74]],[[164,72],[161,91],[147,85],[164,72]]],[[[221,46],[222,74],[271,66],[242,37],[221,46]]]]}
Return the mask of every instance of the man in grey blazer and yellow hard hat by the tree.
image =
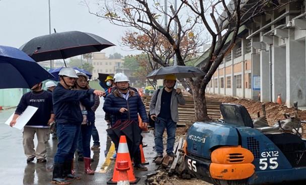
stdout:
{"type": "Polygon", "coordinates": [[[158,157],[163,157],[164,144],[163,134],[167,130],[167,155],[174,157],[173,147],[175,142],[176,123],[179,121],[178,104],[185,105],[185,99],[181,89],[175,89],[176,76],[169,74],[165,76],[163,89],[154,91],[149,112],[155,121],[155,149],[158,157]],[[161,91],[161,92],[160,92],[161,91]]]}

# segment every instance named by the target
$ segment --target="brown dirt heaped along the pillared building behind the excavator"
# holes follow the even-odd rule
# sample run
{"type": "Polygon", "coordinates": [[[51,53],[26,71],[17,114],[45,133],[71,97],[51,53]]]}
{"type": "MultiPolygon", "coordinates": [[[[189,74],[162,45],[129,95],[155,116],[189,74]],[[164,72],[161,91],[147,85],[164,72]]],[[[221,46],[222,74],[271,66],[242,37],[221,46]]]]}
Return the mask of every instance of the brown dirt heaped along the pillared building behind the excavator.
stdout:
{"type": "MultiPolygon", "coordinates": [[[[261,111],[262,102],[253,101],[248,99],[238,99],[233,97],[227,96],[220,96],[220,95],[213,95],[213,94],[206,94],[206,100],[213,100],[221,103],[233,103],[233,104],[240,104],[243,105],[248,111],[252,119],[257,118],[257,112],[261,111]]],[[[271,102],[264,102],[266,105],[266,117],[268,120],[269,125],[274,125],[277,123],[278,120],[284,120],[284,113],[290,114],[291,116],[294,115],[294,109],[288,108],[285,105],[278,105],[276,103],[271,102]]],[[[298,110],[298,116],[301,120],[306,120],[306,110],[298,110]]],[[[306,125],[303,124],[304,131],[306,131],[306,125]]],[[[306,138],[306,134],[303,134],[303,138],[306,138]]]]}

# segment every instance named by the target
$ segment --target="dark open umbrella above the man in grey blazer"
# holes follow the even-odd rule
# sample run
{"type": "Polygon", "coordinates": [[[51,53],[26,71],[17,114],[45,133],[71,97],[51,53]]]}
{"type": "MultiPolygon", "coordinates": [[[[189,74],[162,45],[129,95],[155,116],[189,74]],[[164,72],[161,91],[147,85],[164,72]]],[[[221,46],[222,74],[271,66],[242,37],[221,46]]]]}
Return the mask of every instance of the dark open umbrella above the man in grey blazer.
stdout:
{"type": "Polygon", "coordinates": [[[169,67],[161,67],[150,72],[146,77],[152,79],[163,79],[166,75],[174,74],[177,78],[189,78],[203,76],[205,73],[193,66],[175,65],[169,67]]]}

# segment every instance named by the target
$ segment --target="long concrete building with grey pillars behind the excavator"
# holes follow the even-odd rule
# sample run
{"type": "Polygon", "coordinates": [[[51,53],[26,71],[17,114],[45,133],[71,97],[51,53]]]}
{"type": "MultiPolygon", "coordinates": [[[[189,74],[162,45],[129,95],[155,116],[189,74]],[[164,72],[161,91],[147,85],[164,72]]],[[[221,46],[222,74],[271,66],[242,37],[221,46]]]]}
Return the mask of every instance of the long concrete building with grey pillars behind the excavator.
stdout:
{"type": "MultiPolygon", "coordinates": [[[[242,26],[206,91],[262,102],[276,102],[280,94],[288,107],[294,101],[306,106],[305,17],[305,1],[296,1],[242,26]]],[[[206,52],[195,65],[207,57],[206,52]]]]}

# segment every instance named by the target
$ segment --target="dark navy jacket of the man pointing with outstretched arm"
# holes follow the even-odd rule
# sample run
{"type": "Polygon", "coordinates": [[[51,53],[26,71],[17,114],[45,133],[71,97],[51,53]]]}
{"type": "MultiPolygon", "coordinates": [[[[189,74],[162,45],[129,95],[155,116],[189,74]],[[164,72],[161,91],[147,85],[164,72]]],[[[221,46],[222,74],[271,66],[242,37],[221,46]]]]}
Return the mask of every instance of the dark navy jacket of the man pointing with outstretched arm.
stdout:
{"type": "Polygon", "coordinates": [[[69,90],[58,83],[52,97],[56,123],[81,124],[83,116],[79,101],[93,93],[94,89],[69,90]]]}

